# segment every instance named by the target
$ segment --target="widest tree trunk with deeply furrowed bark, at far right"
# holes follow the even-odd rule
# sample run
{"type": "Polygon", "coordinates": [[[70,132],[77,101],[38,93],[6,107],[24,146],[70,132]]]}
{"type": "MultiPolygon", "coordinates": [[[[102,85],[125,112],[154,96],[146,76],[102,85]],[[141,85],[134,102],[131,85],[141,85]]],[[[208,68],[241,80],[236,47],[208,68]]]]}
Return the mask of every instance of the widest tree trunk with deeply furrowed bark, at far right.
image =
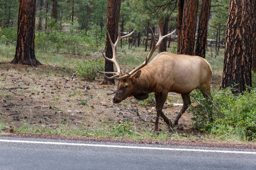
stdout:
{"type": "Polygon", "coordinates": [[[252,0],[229,1],[221,88],[234,86],[233,94],[251,87],[253,20],[252,0]]]}

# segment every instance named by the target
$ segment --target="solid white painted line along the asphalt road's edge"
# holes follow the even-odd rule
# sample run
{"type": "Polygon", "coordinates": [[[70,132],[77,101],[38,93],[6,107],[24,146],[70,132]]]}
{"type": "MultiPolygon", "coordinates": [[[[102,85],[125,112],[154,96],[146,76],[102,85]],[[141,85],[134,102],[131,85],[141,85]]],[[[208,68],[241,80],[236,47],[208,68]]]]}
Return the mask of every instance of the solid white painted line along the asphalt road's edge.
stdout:
{"type": "MultiPolygon", "coordinates": [[[[130,149],[142,149],[142,150],[167,150],[167,151],[191,151],[191,152],[218,152],[229,154],[254,154],[255,152],[245,151],[221,151],[221,150],[197,150],[197,149],[185,149],[185,148],[162,148],[162,147],[143,147],[143,146],[122,146],[122,145],[97,145],[86,143],[63,143],[63,142],[41,142],[41,141],[18,141],[18,140],[5,140],[0,139],[0,142],[13,142],[13,143],[34,143],[44,145],[69,145],[69,146],[91,146],[91,147],[112,147],[112,148],[130,148],[130,149]]],[[[0,145],[1,146],[1,145],[0,145]]]]}

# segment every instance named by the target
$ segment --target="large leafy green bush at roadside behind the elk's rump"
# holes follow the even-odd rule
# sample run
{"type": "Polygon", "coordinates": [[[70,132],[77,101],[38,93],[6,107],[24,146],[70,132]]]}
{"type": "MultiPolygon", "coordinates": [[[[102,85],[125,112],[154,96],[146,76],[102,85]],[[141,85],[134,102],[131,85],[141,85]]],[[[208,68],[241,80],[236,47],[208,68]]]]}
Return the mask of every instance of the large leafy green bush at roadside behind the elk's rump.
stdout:
{"type": "Polygon", "coordinates": [[[212,103],[204,99],[199,90],[191,94],[197,103],[188,112],[193,114],[193,126],[205,132],[224,134],[241,130],[248,140],[256,138],[256,90],[234,95],[230,89],[212,91],[212,103]],[[210,122],[213,118],[213,122],[210,122]]]}

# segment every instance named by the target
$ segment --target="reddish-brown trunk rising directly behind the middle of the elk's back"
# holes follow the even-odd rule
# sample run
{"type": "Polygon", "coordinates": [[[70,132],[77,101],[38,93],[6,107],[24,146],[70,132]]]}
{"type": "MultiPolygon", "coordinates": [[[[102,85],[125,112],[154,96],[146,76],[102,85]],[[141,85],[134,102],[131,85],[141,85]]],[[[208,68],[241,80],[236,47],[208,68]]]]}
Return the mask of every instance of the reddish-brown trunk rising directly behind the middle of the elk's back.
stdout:
{"type": "Polygon", "coordinates": [[[181,25],[181,39],[178,54],[193,56],[196,38],[198,0],[185,0],[181,25]]]}

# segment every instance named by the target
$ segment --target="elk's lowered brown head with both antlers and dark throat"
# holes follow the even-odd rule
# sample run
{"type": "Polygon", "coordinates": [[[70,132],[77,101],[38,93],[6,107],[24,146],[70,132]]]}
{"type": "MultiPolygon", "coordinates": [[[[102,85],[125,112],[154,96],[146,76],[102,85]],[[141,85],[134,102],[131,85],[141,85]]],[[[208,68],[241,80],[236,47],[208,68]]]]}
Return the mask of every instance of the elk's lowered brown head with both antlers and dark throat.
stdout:
{"type": "Polygon", "coordinates": [[[146,60],[141,65],[139,65],[134,70],[132,70],[129,73],[126,73],[126,74],[123,73],[123,71],[120,69],[120,67],[117,63],[117,59],[115,58],[116,57],[115,49],[117,47],[118,42],[121,39],[124,39],[124,38],[132,35],[134,31],[129,33],[128,35],[121,36],[120,28],[119,28],[119,25],[118,25],[118,38],[117,38],[117,41],[115,41],[115,44],[113,44],[113,42],[110,38],[109,32],[107,31],[108,38],[109,38],[109,41],[110,41],[110,44],[111,44],[112,50],[113,50],[113,58],[106,57],[103,52],[102,52],[102,55],[106,60],[114,63],[114,65],[117,67],[117,72],[104,72],[104,71],[98,70],[97,68],[96,68],[96,70],[99,73],[104,74],[105,77],[108,78],[108,79],[118,79],[119,80],[118,87],[117,87],[117,92],[115,93],[115,96],[113,97],[113,102],[114,103],[120,103],[122,100],[125,100],[129,96],[134,96],[136,99],[139,99],[139,100],[143,100],[143,99],[148,98],[148,94],[139,93],[138,88],[134,86],[134,82],[137,78],[139,78],[139,76],[141,76],[141,70],[140,69],[142,69],[142,67],[147,65],[147,63],[150,60],[152,54],[154,53],[155,49],[158,48],[158,46],[160,45],[162,40],[164,38],[172,35],[172,33],[174,33],[175,31],[169,33],[168,35],[162,36],[161,32],[160,32],[160,28],[158,26],[159,39],[158,39],[158,42],[156,43],[154,32],[151,29],[152,41],[153,42],[152,42],[152,48],[150,50],[150,53],[147,55],[146,60]],[[112,74],[113,76],[109,77],[109,76],[106,76],[106,74],[112,74]]]}

